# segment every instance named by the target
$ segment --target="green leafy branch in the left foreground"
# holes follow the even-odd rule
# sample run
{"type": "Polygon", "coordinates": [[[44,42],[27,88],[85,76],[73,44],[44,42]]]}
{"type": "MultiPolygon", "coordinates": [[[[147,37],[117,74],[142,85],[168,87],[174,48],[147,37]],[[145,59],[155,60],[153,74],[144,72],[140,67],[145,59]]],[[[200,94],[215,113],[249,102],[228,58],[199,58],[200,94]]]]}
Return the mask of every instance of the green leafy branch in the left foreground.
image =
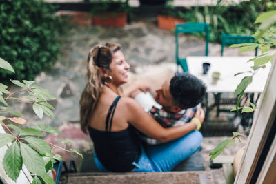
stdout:
{"type": "MultiPolygon", "coordinates": [[[[12,66],[7,61],[0,58],[0,68],[14,72],[12,66]]],[[[21,129],[17,125],[8,124],[6,125],[6,120],[12,121],[19,125],[26,124],[26,120],[19,117],[23,116],[20,112],[15,112],[8,109],[8,99],[16,99],[17,101],[32,103],[32,109],[34,113],[37,114],[39,119],[43,119],[43,114],[46,114],[53,119],[55,115],[52,110],[55,108],[50,105],[46,99],[55,99],[48,90],[39,87],[34,84],[34,81],[23,82],[17,80],[10,80],[14,85],[17,85],[23,90],[18,90],[14,92],[9,92],[7,90],[8,86],[0,83],[0,103],[5,106],[0,106],[2,112],[8,112],[17,117],[6,117],[0,116],[0,125],[2,125],[10,134],[0,133],[0,147],[5,145],[8,146],[6,153],[3,157],[3,167],[6,174],[12,178],[13,181],[17,181],[19,177],[22,165],[25,165],[29,172],[34,176],[32,183],[55,183],[50,176],[46,173],[52,170],[53,164],[56,160],[61,161],[63,158],[59,154],[52,154],[52,150],[57,147],[66,152],[75,152],[82,157],[79,150],[66,150],[65,146],[60,147],[54,145],[46,140],[41,139],[41,137],[46,134],[61,134],[61,132],[55,130],[53,127],[48,127],[45,125],[32,126],[29,128],[21,129]],[[16,93],[28,93],[24,96],[24,99],[13,97],[16,93]],[[6,96],[4,96],[6,95],[6,96]],[[5,122],[4,122],[5,121],[5,122]],[[17,132],[18,136],[11,131],[17,132]],[[50,147],[50,145],[52,147],[50,147]]],[[[62,141],[63,144],[70,145],[71,143],[65,139],[62,141]]]]}

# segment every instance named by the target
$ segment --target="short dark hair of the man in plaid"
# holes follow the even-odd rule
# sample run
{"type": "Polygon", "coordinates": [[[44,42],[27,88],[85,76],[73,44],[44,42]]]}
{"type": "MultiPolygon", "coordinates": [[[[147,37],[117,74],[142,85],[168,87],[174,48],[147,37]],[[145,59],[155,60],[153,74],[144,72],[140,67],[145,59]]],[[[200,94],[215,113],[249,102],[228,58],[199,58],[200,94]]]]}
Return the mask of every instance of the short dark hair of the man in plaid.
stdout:
{"type": "Polygon", "coordinates": [[[176,73],[170,80],[170,94],[179,108],[193,108],[199,104],[206,93],[206,86],[188,72],[176,73]]]}

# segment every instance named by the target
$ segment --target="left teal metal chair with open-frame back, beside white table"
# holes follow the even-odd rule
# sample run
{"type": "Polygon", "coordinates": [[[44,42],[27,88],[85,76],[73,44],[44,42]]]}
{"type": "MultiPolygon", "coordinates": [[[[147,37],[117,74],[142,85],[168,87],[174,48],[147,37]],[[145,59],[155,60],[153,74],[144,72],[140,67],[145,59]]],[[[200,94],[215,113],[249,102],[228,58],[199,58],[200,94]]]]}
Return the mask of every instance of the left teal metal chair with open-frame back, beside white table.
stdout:
{"type": "Polygon", "coordinates": [[[178,43],[178,35],[180,33],[193,33],[193,32],[205,32],[205,40],[206,40],[206,50],[205,55],[208,56],[208,43],[209,43],[209,24],[208,23],[197,23],[197,22],[189,22],[189,23],[179,23],[175,25],[175,44],[176,44],[176,63],[181,66],[184,72],[188,72],[188,65],[186,58],[179,58],[179,43],[178,43]]]}

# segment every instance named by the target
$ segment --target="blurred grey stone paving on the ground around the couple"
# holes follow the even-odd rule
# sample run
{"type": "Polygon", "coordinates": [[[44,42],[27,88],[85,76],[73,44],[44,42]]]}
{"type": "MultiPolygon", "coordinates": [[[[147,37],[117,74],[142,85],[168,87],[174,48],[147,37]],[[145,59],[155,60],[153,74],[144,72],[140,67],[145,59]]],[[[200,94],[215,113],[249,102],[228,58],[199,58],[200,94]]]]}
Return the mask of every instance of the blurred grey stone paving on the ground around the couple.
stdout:
{"type": "MultiPolygon", "coordinates": [[[[50,101],[56,109],[54,111],[56,118],[51,119],[45,115],[43,121],[40,121],[34,116],[32,106],[14,104],[13,107],[23,112],[24,117],[28,120],[28,126],[42,123],[56,127],[62,132],[61,136],[48,136],[48,141],[59,144],[62,138],[66,138],[68,141],[72,141],[73,149],[79,149],[81,152],[92,150],[92,142],[89,137],[79,130],[79,99],[86,83],[86,58],[93,45],[106,41],[121,43],[126,61],[130,63],[132,75],[138,76],[138,78],[141,76],[139,79],[149,79],[150,77],[145,77],[147,74],[149,76],[150,74],[159,74],[155,76],[160,83],[166,77],[165,71],[172,74],[177,68],[175,65],[175,35],[168,30],[159,30],[154,19],[135,20],[125,28],[74,26],[68,28],[67,35],[63,35],[59,39],[63,44],[61,57],[52,68],[41,72],[35,79],[38,85],[47,88],[57,97],[56,100],[50,101]]],[[[204,40],[182,36],[180,43],[183,45],[181,48],[183,56],[204,55],[204,40]]],[[[209,55],[219,56],[219,43],[210,43],[209,50],[209,55]]],[[[231,54],[237,54],[237,50],[226,48],[225,55],[231,54]]],[[[254,55],[253,52],[245,54],[254,55]]],[[[157,87],[155,86],[155,88],[157,87]]],[[[221,119],[225,120],[227,116],[223,116],[221,119]]],[[[206,170],[210,170],[208,153],[224,139],[226,137],[204,138],[202,148],[206,170]]],[[[230,148],[224,154],[233,155],[239,147],[242,146],[237,145],[237,147],[230,148]]],[[[75,159],[77,163],[81,163],[81,159],[75,154],[68,155],[58,150],[55,151],[63,155],[66,161],[75,159]]],[[[213,172],[214,178],[217,177],[215,183],[225,182],[221,169],[211,172],[213,172]]]]}

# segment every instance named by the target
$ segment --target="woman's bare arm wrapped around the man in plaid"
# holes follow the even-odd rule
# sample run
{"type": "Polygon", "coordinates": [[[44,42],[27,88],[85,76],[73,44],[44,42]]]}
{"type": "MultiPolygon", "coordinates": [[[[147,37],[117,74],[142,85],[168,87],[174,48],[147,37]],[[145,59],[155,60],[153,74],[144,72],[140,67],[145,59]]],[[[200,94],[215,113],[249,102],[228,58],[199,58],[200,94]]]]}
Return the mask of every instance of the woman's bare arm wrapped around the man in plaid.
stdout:
{"type": "MultiPolygon", "coordinates": [[[[137,128],[137,130],[144,134],[157,139],[161,142],[167,142],[177,139],[185,134],[196,129],[196,125],[193,122],[186,123],[179,127],[162,127],[155,119],[147,114],[143,108],[133,99],[126,99],[125,112],[128,123],[137,128]]],[[[202,110],[201,116],[204,111],[202,110]]],[[[198,113],[199,114],[199,113],[198,113]]],[[[204,119],[204,118],[203,118],[204,119]]]]}

